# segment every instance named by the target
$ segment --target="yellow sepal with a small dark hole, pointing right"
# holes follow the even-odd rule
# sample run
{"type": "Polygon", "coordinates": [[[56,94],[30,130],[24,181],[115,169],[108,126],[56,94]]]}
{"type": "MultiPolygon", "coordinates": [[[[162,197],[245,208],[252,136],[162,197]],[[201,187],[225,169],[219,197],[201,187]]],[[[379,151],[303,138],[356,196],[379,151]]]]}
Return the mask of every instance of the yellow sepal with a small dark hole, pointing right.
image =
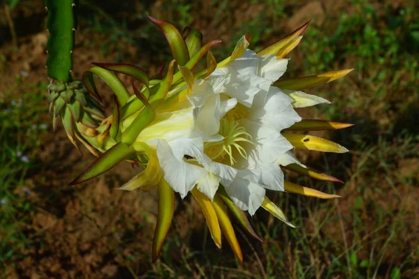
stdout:
{"type": "Polygon", "coordinates": [[[315,150],[322,152],[345,153],[348,152],[344,146],[331,142],[330,140],[315,137],[314,135],[301,134],[281,134],[288,142],[293,144],[296,149],[315,150]]]}

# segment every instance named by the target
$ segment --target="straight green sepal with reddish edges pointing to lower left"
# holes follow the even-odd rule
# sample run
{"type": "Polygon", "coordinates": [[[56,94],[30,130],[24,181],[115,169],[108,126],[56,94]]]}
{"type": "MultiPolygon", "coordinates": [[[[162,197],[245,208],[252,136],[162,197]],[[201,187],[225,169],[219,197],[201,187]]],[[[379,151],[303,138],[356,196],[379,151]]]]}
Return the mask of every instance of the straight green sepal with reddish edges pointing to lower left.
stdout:
{"type": "Polygon", "coordinates": [[[135,153],[135,150],[126,146],[122,142],[118,142],[112,146],[108,151],[103,153],[103,155],[97,158],[94,163],[87,167],[84,172],[77,176],[73,181],[71,181],[68,186],[72,186],[78,183],[82,183],[89,179],[107,172],[112,167],[115,167],[122,162],[128,156],[131,156],[135,153]]]}

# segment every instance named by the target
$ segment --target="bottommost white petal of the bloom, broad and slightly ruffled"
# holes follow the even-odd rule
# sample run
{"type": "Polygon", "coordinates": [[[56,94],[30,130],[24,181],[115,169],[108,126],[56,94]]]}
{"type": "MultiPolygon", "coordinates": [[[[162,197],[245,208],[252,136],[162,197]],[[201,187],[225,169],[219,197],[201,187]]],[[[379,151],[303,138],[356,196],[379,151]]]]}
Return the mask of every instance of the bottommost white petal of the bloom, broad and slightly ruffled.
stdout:
{"type": "Polygon", "coordinates": [[[224,186],[228,196],[242,210],[247,210],[253,215],[260,207],[265,197],[266,190],[257,183],[236,177],[229,186],[224,186]]]}

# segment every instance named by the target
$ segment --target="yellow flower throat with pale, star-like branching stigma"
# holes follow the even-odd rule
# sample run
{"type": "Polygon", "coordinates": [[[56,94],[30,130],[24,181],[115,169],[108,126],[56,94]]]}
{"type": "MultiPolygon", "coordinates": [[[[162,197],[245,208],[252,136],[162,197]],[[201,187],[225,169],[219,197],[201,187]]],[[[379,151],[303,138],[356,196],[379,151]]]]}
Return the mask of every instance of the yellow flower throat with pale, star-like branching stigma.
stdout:
{"type": "Polygon", "coordinates": [[[251,135],[237,121],[221,119],[219,134],[224,137],[223,140],[204,144],[204,152],[208,157],[219,163],[225,163],[229,159],[229,162],[226,163],[230,163],[232,166],[237,163],[234,158],[237,153],[247,159],[247,152],[241,144],[244,142],[255,143],[251,141],[251,135]]]}

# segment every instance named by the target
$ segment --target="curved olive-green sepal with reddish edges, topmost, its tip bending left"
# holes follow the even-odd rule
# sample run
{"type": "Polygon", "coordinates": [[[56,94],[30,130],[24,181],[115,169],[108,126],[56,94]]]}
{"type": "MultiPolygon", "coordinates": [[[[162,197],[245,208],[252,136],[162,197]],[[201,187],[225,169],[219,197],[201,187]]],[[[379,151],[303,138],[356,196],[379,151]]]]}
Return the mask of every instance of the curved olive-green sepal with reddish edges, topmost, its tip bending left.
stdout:
{"type": "Polygon", "coordinates": [[[168,40],[170,50],[172,50],[173,58],[179,63],[180,66],[184,66],[187,61],[189,61],[189,52],[188,47],[186,47],[186,43],[182,35],[180,34],[179,30],[175,27],[175,25],[171,24],[170,22],[166,22],[164,20],[156,20],[154,17],[150,17],[147,15],[149,20],[151,20],[154,24],[156,24],[161,31],[163,31],[164,36],[166,36],[166,40],[168,40]]]}

